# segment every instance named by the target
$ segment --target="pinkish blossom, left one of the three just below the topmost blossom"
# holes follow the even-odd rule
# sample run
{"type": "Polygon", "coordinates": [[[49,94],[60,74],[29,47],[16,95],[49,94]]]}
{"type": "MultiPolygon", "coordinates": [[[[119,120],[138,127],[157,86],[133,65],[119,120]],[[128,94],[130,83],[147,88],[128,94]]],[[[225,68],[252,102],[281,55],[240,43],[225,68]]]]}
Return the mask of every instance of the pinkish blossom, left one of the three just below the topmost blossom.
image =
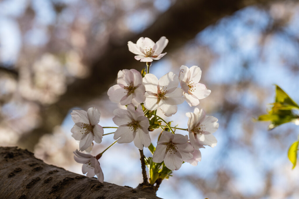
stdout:
{"type": "Polygon", "coordinates": [[[120,70],[117,75],[117,84],[110,87],[107,94],[113,102],[128,105],[135,99],[139,104],[143,103],[145,88],[142,84],[142,76],[135,69],[120,70]]]}

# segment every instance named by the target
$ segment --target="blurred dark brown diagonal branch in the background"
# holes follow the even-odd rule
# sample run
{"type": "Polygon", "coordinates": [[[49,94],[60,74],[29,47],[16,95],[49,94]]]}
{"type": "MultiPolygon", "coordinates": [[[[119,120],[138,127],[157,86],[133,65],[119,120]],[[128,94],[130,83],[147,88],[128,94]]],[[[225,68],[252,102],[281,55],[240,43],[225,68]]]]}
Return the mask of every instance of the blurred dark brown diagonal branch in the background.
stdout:
{"type": "Polygon", "coordinates": [[[169,39],[169,44],[165,52],[170,53],[219,19],[246,6],[270,2],[274,2],[274,0],[176,1],[169,10],[158,16],[157,20],[142,33],[123,38],[121,41],[111,36],[105,53],[99,53],[101,56],[95,60],[85,61],[87,65],[91,66],[91,75],[86,79],[78,79],[68,86],[67,92],[57,103],[43,107],[40,127],[30,135],[24,135],[19,141],[19,146],[32,151],[40,136],[52,132],[54,126],[62,123],[69,109],[86,104],[106,91],[116,79],[118,70],[140,69],[142,64],[136,61],[134,54],[128,51],[127,41],[136,42],[141,36],[157,41],[161,36],[166,36],[169,39]]]}

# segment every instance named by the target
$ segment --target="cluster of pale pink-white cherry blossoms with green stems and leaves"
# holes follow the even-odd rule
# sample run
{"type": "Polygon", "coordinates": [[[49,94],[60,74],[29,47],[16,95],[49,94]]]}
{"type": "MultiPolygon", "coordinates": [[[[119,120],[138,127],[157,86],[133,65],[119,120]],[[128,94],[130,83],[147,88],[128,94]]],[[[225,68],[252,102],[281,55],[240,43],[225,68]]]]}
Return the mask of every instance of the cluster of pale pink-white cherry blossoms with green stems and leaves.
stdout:
{"type": "MultiPolygon", "coordinates": [[[[202,158],[199,149],[205,148],[205,145],[216,146],[217,140],[213,133],[219,126],[217,118],[205,115],[205,111],[197,107],[194,112],[186,113],[189,119],[185,129],[171,127],[170,122],[157,115],[157,109],[161,109],[165,116],[170,117],[177,112],[177,105],[186,101],[191,107],[197,106],[201,99],[211,93],[205,84],[199,83],[202,71],[198,66],[188,68],[182,65],[178,74],[168,72],[160,79],[149,73],[151,62],[166,54],[162,52],[167,44],[166,37],[161,37],[156,43],[147,37],[139,38],[136,44],[129,41],[129,51],[136,54],[136,60],[147,62],[147,72],[144,70],[138,72],[135,69],[120,70],[117,84],[110,87],[107,92],[111,101],[125,106],[124,109],[113,111],[115,115],[113,122],[118,127],[104,127],[117,128],[113,137],[116,141],[109,147],[116,142],[120,144],[134,142],[140,150],[141,157],[144,147],[148,147],[153,156],[146,157],[145,160],[141,158],[141,162],[146,161],[147,166],[151,168],[149,181],[152,185],[158,178],[161,180],[168,178],[169,174],[173,170],[178,170],[184,162],[196,166],[202,158]],[[162,122],[165,125],[161,125],[162,122]],[[163,130],[155,147],[150,132],[158,128],[163,130]],[[176,129],[183,130],[189,137],[176,133],[176,129]]],[[[87,112],[73,110],[71,116],[75,123],[71,129],[72,136],[80,141],[81,151],[90,150],[93,141],[101,143],[105,134],[103,127],[98,124],[100,120],[98,109],[89,108],[87,112]]],[[[88,177],[97,175],[99,181],[103,182],[103,172],[98,159],[107,149],[95,157],[76,150],[74,158],[77,162],[83,163],[83,173],[87,172],[88,177]]]]}

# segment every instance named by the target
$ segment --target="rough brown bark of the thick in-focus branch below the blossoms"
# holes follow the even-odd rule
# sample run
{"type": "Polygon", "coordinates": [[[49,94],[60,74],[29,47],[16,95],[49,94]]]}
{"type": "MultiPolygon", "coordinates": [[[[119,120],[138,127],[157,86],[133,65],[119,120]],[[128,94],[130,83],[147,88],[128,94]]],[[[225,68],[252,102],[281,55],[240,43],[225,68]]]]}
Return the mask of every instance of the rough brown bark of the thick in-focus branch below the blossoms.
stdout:
{"type": "Polygon", "coordinates": [[[158,198],[155,191],[100,183],[48,165],[17,147],[0,147],[0,198],[158,198]]]}

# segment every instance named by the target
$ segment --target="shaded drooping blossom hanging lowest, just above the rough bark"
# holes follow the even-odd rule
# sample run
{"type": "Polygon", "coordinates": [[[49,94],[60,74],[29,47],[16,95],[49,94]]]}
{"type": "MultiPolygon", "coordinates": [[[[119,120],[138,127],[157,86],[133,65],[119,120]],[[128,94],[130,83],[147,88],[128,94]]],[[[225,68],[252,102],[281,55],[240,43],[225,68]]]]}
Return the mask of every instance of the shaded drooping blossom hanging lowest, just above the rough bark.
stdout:
{"type": "Polygon", "coordinates": [[[97,159],[90,155],[81,153],[76,149],[76,151],[73,152],[75,154],[74,159],[78,163],[82,163],[82,173],[86,174],[87,177],[92,178],[94,175],[97,175],[98,181],[101,183],[104,182],[104,174],[100,167],[99,161],[97,159]]]}

